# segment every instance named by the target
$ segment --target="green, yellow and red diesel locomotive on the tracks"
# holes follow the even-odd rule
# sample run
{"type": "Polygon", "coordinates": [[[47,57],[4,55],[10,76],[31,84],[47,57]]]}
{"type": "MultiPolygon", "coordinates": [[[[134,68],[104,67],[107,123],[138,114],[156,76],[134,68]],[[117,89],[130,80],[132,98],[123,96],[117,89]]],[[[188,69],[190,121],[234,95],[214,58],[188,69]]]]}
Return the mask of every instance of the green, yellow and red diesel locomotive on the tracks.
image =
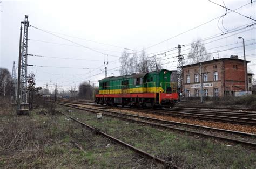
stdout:
{"type": "Polygon", "coordinates": [[[177,83],[171,82],[172,71],[112,76],[99,80],[97,104],[141,107],[173,107],[178,100],[177,83]]]}

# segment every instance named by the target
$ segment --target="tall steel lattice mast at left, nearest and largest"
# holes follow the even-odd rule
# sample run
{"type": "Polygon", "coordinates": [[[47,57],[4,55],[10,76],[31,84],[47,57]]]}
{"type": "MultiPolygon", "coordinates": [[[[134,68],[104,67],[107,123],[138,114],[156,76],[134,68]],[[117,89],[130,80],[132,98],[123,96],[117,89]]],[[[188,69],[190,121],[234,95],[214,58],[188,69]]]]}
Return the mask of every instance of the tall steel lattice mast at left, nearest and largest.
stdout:
{"type": "Polygon", "coordinates": [[[18,91],[17,91],[17,114],[28,114],[28,101],[26,95],[27,86],[27,72],[28,72],[28,27],[29,27],[29,16],[25,15],[23,32],[23,43],[21,45],[22,37],[22,26],[19,39],[19,63],[18,63],[18,91]],[[21,47],[22,46],[22,47],[21,47]]]}

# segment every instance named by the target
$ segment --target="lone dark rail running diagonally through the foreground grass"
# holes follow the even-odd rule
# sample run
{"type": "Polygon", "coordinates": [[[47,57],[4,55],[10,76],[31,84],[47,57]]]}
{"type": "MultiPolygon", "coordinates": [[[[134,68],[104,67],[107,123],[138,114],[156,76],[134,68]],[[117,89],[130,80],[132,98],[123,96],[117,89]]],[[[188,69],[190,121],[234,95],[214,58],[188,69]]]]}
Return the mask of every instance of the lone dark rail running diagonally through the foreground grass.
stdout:
{"type": "Polygon", "coordinates": [[[122,140],[119,140],[119,139],[117,139],[117,138],[114,138],[113,136],[108,135],[107,133],[104,133],[104,132],[102,132],[102,131],[99,131],[98,129],[95,129],[95,128],[93,128],[93,127],[90,126],[90,125],[87,125],[87,124],[85,124],[85,123],[83,123],[83,122],[80,122],[80,121],[78,121],[78,119],[76,119],[75,117],[71,117],[71,116],[69,116],[69,115],[64,114],[63,112],[60,112],[60,111],[58,111],[58,112],[59,112],[60,114],[64,115],[64,116],[66,116],[66,117],[69,117],[70,119],[72,119],[73,121],[75,121],[75,122],[81,124],[82,126],[85,126],[86,128],[90,129],[91,131],[96,132],[97,134],[102,135],[102,136],[104,136],[104,137],[106,137],[106,138],[112,140],[112,142],[115,142],[115,143],[118,143],[118,144],[120,144],[120,145],[122,145],[122,146],[125,146],[125,147],[131,149],[132,151],[141,154],[141,155],[144,156],[144,157],[147,157],[147,158],[149,158],[149,159],[151,159],[151,160],[156,161],[157,163],[166,165],[166,161],[163,160],[163,159],[160,159],[160,158],[158,158],[158,157],[156,157],[156,156],[154,156],[154,155],[152,155],[152,154],[149,154],[149,153],[147,153],[147,152],[145,152],[145,151],[143,151],[143,150],[137,149],[136,147],[134,147],[134,146],[132,146],[132,145],[130,145],[130,144],[127,144],[127,143],[123,142],[122,140]]]}

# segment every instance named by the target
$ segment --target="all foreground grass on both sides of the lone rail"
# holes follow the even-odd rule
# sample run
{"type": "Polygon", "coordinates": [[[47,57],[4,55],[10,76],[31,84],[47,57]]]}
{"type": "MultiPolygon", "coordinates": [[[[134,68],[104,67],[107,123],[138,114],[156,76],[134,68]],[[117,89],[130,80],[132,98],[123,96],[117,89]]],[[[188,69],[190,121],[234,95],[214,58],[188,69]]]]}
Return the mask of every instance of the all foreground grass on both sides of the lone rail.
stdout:
{"type": "MultiPolygon", "coordinates": [[[[58,107],[69,114],[71,108],[58,107]]],[[[182,168],[255,168],[255,148],[225,142],[216,142],[186,133],[152,128],[120,119],[74,110],[70,113],[95,128],[138,147],[148,153],[169,161],[169,167],[182,168]],[[231,146],[230,146],[231,145],[231,146]]],[[[45,167],[45,168],[151,168],[160,167],[152,161],[108,139],[94,135],[66,117],[39,114],[39,109],[30,116],[4,116],[0,130],[0,168],[45,167]],[[27,127],[26,144],[13,144],[6,150],[4,143],[13,140],[3,133],[15,131],[14,126],[27,127]],[[8,127],[4,127],[8,126],[8,127]],[[8,140],[8,139],[10,140],[8,140]],[[6,140],[7,139],[7,140],[6,140]],[[73,142],[77,143],[82,150],[73,142]],[[29,145],[29,146],[28,146],[29,145]]],[[[22,143],[22,142],[21,142],[22,143]]]]}

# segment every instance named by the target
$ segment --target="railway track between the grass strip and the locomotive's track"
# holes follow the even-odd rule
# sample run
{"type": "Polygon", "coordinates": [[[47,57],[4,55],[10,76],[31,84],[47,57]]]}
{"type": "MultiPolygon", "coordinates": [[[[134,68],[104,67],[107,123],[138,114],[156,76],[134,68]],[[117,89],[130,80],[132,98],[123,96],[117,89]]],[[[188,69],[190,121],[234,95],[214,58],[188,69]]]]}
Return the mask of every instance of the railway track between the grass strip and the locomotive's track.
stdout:
{"type": "Polygon", "coordinates": [[[115,111],[109,111],[109,110],[102,110],[102,109],[99,110],[99,109],[84,107],[84,106],[76,105],[72,103],[58,102],[58,104],[65,105],[67,107],[71,107],[79,110],[93,112],[93,113],[101,112],[104,116],[120,118],[126,121],[143,123],[146,125],[151,125],[159,128],[175,130],[180,132],[188,132],[193,135],[200,135],[200,136],[210,137],[214,139],[222,139],[230,142],[256,146],[256,135],[251,133],[223,130],[223,129],[210,128],[206,126],[179,123],[179,122],[173,122],[173,121],[165,121],[165,120],[156,119],[156,118],[124,114],[121,112],[115,112],[115,111]]]}

